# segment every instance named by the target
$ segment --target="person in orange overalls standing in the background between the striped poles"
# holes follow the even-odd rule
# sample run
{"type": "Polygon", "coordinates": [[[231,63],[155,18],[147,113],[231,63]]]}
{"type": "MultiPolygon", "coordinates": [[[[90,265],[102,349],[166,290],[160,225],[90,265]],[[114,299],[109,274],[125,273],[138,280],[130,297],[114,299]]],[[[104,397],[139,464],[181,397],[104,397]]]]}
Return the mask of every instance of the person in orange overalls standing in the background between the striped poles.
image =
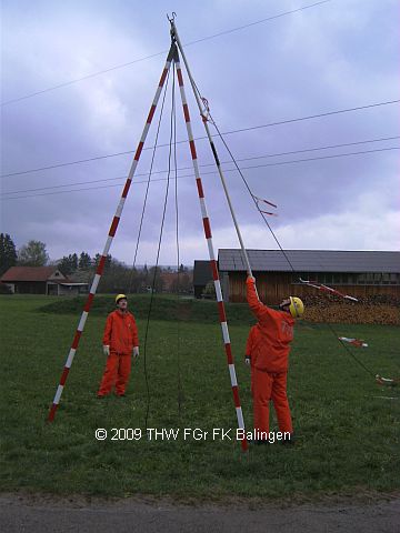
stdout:
{"type": "Polygon", "coordinates": [[[98,398],[110,394],[113,386],[117,396],[124,396],[132,356],[139,356],[138,328],[133,314],[128,311],[127,296],[118,294],[116,304],[116,311],[108,315],[106,322],[103,353],[107,363],[98,398]]]}

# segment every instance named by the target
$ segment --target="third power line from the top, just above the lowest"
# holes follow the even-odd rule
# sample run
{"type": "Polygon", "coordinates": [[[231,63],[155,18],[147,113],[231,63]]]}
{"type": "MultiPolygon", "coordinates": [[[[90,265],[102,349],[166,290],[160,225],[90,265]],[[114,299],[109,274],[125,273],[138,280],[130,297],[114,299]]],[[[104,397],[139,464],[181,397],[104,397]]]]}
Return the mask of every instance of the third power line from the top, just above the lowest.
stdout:
{"type": "MultiPolygon", "coordinates": [[[[239,161],[239,162],[253,161],[256,159],[268,159],[268,158],[276,158],[276,157],[281,157],[281,155],[292,155],[292,154],[296,154],[296,153],[314,152],[314,151],[319,151],[319,150],[331,150],[333,148],[344,148],[344,147],[353,147],[353,145],[367,144],[367,143],[372,143],[372,142],[392,141],[394,139],[400,139],[400,135],[381,137],[381,138],[378,138],[378,139],[368,139],[368,140],[363,140],[363,141],[344,142],[344,143],[340,143],[340,144],[328,144],[328,145],[324,145],[324,147],[304,148],[302,150],[290,150],[288,152],[267,153],[267,154],[263,154],[263,155],[254,155],[254,157],[251,157],[251,158],[242,158],[242,159],[236,159],[236,160],[239,161]]],[[[153,147],[153,149],[157,149],[157,145],[153,147]]],[[[338,154],[337,157],[342,157],[342,155],[346,155],[346,154],[338,154]]],[[[232,161],[221,161],[221,164],[229,164],[232,161]]],[[[199,164],[200,168],[213,167],[213,165],[214,165],[213,162],[212,163],[199,164]]],[[[192,169],[192,167],[181,167],[181,168],[178,168],[178,169],[173,169],[173,171],[182,171],[182,170],[191,170],[191,169],[192,169]]],[[[152,174],[162,174],[162,173],[166,173],[166,172],[167,172],[167,170],[151,171],[152,174]]],[[[147,177],[147,175],[149,175],[148,172],[136,174],[136,177],[147,177]]],[[[117,178],[103,178],[103,179],[100,179],[100,180],[78,181],[78,182],[74,182],[74,183],[66,183],[63,185],[49,185],[49,187],[39,187],[39,188],[34,188],[34,189],[22,189],[22,190],[19,190],[19,191],[3,192],[3,193],[0,194],[0,197],[9,195],[9,194],[20,194],[20,193],[23,193],[23,192],[47,191],[47,190],[50,190],[50,189],[62,189],[63,187],[86,185],[86,184],[89,184],[89,183],[102,183],[104,181],[116,181],[116,180],[122,180],[124,178],[126,178],[124,175],[120,175],[120,177],[117,177],[117,178]]],[[[152,180],[152,181],[157,181],[157,180],[152,180]]]]}

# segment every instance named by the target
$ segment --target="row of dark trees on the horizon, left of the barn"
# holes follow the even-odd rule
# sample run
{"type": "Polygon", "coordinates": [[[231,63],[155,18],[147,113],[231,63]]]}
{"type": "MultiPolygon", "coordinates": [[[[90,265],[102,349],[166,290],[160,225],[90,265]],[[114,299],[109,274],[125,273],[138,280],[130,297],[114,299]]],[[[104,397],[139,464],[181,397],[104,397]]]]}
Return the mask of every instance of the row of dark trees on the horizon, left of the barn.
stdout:
{"type": "MultiPolygon", "coordinates": [[[[31,240],[17,250],[14,242],[8,233],[0,233],[0,275],[11,266],[57,266],[66,276],[73,281],[91,284],[96,269],[101,259],[97,253],[71,253],[63,255],[58,261],[51,261],[46,249],[46,243],[31,240]]],[[[192,291],[191,271],[180,265],[178,273],[171,275],[172,270],[160,266],[144,265],[142,269],[127,266],[121,261],[107,257],[103,275],[101,276],[100,292],[182,292],[192,291]]]]}

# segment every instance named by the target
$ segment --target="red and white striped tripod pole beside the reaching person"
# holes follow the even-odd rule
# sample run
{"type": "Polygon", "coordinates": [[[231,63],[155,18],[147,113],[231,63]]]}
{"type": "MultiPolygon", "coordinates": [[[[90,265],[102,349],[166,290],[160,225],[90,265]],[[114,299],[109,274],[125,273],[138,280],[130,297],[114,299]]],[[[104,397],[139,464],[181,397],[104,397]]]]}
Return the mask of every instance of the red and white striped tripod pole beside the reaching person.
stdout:
{"type": "MultiPolygon", "coordinates": [[[[243,420],[243,413],[240,404],[238,380],[237,380],[236,370],[234,370],[234,361],[233,361],[232,349],[231,349],[231,343],[229,338],[229,330],[228,330],[227,315],[226,315],[226,310],[224,310],[224,304],[222,299],[221,283],[219,279],[219,272],[218,272],[216,254],[214,254],[214,249],[212,243],[211,224],[210,224],[209,215],[207,213],[204,191],[202,188],[202,182],[201,182],[200,172],[199,172],[199,163],[197,160],[196,144],[194,144],[192,128],[190,123],[190,114],[189,114],[189,108],[188,108],[186,92],[184,92],[183,77],[182,77],[182,70],[179,62],[178,49],[176,49],[173,59],[177,67],[177,77],[178,77],[178,83],[179,83],[180,94],[182,99],[183,115],[184,115],[184,122],[188,131],[189,147],[190,147],[190,152],[191,152],[191,158],[192,158],[192,163],[194,169],[196,184],[199,193],[204,235],[206,235],[206,240],[209,249],[210,265],[211,265],[212,279],[216,288],[217,304],[218,304],[219,318],[221,323],[223,344],[227,353],[227,361],[228,361],[229,374],[230,374],[232,393],[233,393],[233,402],[234,402],[234,408],[236,408],[237,419],[238,419],[238,428],[239,430],[242,430],[244,434],[244,420],[243,420]]],[[[241,440],[241,446],[243,451],[248,450],[248,442],[246,439],[241,440]]]]}

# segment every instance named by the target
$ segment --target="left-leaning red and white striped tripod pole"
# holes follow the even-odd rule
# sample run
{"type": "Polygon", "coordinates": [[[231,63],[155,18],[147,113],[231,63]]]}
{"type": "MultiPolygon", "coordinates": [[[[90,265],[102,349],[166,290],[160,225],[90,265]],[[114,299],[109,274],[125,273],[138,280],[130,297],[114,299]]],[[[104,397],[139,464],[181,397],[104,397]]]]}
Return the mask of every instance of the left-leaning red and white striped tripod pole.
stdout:
{"type": "Polygon", "coordinates": [[[109,233],[108,233],[108,238],[107,238],[107,241],[106,241],[106,245],[104,245],[104,249],[103,249],[101,259],[100,259],[100,261],[99,261],[98,268],[97,268],[97,270],[96,270],[96,275],[94,275],[93,282],[92,282],[92,284],[91,284],[90,292],[89,292],[88,299],[87,299],[87,301],[86,301],[86,304],[84,304],[84,308],[83,308],[83,312],[82,312],[82,314],[81,314],[81,318],[80,318],[80,321],[79,321],[79,324],[78,324],[76,334],[74,334],[74,336],[73,336],[72,344],[71,344],[71,348],[70,348],[68,358],[67,358],[67,362],[66,362],[63,372],[62,372],[62,374],[61,374],[60,384],[59,384],[59,386],[58,386],[58,389],[57,389],[57,391],[56,391],[56,395],[54,395],[54,399],[53,399],[53,403],[52,403],[52,405],[51,405],[51,408],[50,408],[50,411],[49,411],[49,416],[48,416],[48,421],[49,421],[49,422],[52,422],[52,421],[54,420],[56,411],[57,411],[57,409],[58,409],[58,406],[59,406],[59,403],[60,403],[60,398],[61,398],[63,388],[64,388],[64,385],[66,385],[66,381],[67,381],[67,378],[68,378],[68,373],[69,373],[70,368],[71,368],[71,365],[72,365],[73,358],[74,358],[74,355],[76,355],[76,353],[77,353],[78,345],[79,345],[79,341],[80,341],[80,338],[81,338],[81,335],[82,335],[82,333],[83,333],[84,324],[86,324],[86,321],[87,321],[87,319],[88,319],[89,311],[90,311],[90,308],[91,308],[92,302],[93,302],[93,299],[94,299],[94,294],[96,294],[96,292],[97,292],[97,289],[98,289],[98,285],[99,285],[101,275],[102,275],[103,270],[104,270],[104,264],[106,264],[107,255],[108,255],[108,253],[109,253],[109,251],[110,251],[112,240],[113,240],[113,238],[114,238],[114,235],[116,235],[116,232],[117,232],[117,229],[118,229],[118,224],[119,224],[119,221],[120,221],[121,215],[122,215],[123,205],[124,205],[124,202],[126,202],[127,197],[128,197],[128,192],[129,192],[129,189],[130,189],[130,185],[131,185],[131,182],[132,182],[132,178],[133,178],[133,175],[134,175],[134,172],[136,172],[136,169],[137,169],[137,165],[138,165],[138,162],[139,162],[139,158],[140,158],[140,154],[141,154],[141,152],[142,152],[142,149],[143,149],[143,145],[144,145],[144,141],[146,141],[146,138],[147,138],[147,135],[148,135],[149,128],[150,128],[152,118],[153,118],[153,115],[154,115],[154,111],[156,111],[158,101],[159,101],[159,99],[160,99],[161,91],[162,91],[162,88],[163,88],[163,84],[164,84],[164,81],[166,81],[168,71],[169,71],[169,69],[170,69],[170,67],[171,67],[172,56],[173,56],[174,48],[176,48],[174,46],[171,46],[171,48],[170,48],[170,50],[169,50],[169,53],[168,53],[168,57],[167,57],[167,61],[166,61],[166,66],[164,66],[164,68],[163,68],[163,70],[162,70],[162,74],[161,74],[161,78],[160,78],[160,81],[159,81],[159,84],[158,84],[158,88],[157,88],[157,91],[156,91],[154,99],[153,99],[152,104],[151,104],[151,108],[150,108],[149,115],[148,115],[148,118],[147,118],[147,121],[146,121],[146,124],[144,124],[144,128],[143,128],[143,132],[142,132],[142,134],[141,134],[141,138],[140,138],[139,144],[138,144],[137,151],[136,151],[136,153],[134,153],[134,158],[133,158],[133,161],[132,161],[132,164],[131,164],[131,168],[130,168],[130,171],[129,171],[127,181],[126,181],[126,183],[124,183],[124,187],[123,187],[123,190],[122,190],[122,194],[121,194],[120,201],[119,201],[118,207],[117,207],[116,214],[114,214],[114,217],[113,217],[113,219],[112,219],[112,222],[111,222],[111,225],[110,225],[110,230],[109,230],[109,233]]]}

